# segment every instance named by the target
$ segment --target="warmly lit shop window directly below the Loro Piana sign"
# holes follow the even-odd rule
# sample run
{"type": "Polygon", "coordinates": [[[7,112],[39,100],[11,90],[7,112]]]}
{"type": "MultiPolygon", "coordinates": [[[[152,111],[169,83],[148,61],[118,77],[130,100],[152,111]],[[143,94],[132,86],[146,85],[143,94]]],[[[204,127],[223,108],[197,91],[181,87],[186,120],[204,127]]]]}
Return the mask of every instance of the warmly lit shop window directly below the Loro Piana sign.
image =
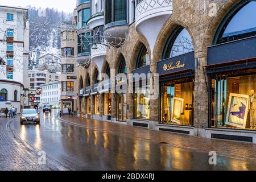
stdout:
{"type": "Polygon", "coordinates": [[[192,78],[162,82],[160,89],[160,123],[192,126],[192,78]]]}

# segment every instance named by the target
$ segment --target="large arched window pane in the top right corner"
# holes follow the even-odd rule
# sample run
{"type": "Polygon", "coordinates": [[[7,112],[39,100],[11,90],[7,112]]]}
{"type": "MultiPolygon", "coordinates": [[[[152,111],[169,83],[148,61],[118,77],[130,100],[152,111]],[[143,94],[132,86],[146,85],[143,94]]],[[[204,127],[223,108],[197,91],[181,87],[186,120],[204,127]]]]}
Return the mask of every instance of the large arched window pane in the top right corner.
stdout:
{"type": "Polygon", "coordinates": [[[241,1],[222,20],[213,45],[256,35],[256,2],[241,1]]]}

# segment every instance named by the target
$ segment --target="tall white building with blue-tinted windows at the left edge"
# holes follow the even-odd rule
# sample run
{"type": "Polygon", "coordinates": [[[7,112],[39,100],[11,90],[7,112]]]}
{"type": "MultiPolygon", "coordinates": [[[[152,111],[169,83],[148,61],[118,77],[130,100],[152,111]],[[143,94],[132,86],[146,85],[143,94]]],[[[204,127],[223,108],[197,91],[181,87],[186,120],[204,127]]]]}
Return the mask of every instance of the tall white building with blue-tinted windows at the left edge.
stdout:
{"type": "Polygon", "coordinates": [[[0,6],[0,109],[24,105],[24,76],[28,71],[29,30],[27,9],[0,6]]]}

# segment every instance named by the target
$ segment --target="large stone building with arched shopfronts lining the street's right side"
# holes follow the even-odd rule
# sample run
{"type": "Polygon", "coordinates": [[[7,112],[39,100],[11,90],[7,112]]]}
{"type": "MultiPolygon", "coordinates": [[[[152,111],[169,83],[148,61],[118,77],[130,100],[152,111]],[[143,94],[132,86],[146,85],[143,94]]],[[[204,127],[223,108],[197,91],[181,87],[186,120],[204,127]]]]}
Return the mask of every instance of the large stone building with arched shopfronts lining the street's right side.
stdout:
{"type": "Polygon", "coordinates": [[[99,1],[75,10],[79,35],[91,38],[77,44],[85,45],[77,55],[79,115],[256,143],[256,2],[119,1],[114,9],[116,1],[105,1],[104,14],[99,1]],[[114,78],[102,84],[102,73],[114,78]],[[147,76],[134,81],[135,73],[147,76]],[[117,92],[123,82],[127,92],[117,92]]]}

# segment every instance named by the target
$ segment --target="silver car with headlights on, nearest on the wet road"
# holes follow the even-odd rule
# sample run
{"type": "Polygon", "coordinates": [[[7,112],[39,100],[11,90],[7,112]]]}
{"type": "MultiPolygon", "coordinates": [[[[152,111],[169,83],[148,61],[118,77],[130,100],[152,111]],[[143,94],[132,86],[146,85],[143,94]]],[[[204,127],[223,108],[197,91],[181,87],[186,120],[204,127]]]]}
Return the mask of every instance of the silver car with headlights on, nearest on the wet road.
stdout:
{"type": "Polygon", "coordinates": [[[23,109],[22,113],[20,113],[20,125],[23,125],[24,122],[40,124],[39,114],[35,109],[23,109]]]}

